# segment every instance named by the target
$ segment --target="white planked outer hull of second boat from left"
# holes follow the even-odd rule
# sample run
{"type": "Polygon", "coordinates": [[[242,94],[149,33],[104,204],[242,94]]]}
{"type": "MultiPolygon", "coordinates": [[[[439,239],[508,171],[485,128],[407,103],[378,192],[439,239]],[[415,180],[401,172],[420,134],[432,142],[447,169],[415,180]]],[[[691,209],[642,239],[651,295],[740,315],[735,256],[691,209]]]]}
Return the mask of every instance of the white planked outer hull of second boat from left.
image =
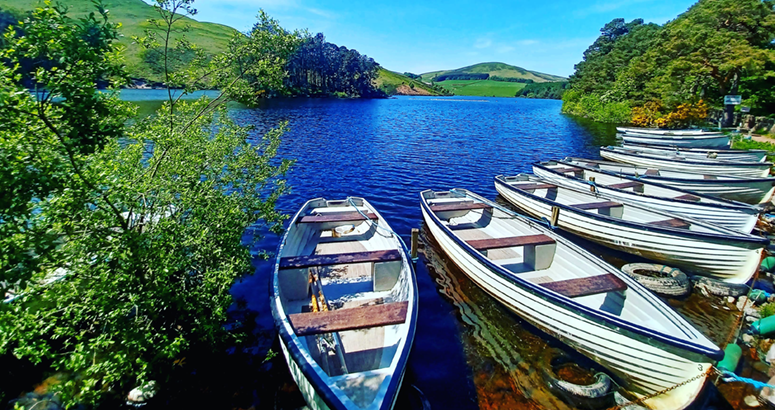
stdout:
{"type": "Polygon", "coordinates": [[[674,346],[595,321],[506,280],[497,269],[482,263],[478,252],[466,249],[445,231],[424,205],[422,213],[442,250],[477,286],[533,326],[628,381],[633,393],[649,395],[694,378],[646,400],[651,408],[683,409],[701,392],[712,360],[700,354],[687,355],[674,346]]]}

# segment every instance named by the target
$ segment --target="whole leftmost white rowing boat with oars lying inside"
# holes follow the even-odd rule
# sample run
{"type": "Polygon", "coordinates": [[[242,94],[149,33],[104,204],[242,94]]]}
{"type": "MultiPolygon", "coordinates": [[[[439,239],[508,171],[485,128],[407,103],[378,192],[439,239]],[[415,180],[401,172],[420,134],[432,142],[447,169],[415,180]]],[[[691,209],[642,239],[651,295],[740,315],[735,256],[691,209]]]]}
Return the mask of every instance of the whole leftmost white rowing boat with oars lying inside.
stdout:
{"type": "Polygon", "coordinates": [[[313,199],[277,252],[272,314],[314,410],[393,408],[417,319],[400,238],[365,199],[313,199]]]}

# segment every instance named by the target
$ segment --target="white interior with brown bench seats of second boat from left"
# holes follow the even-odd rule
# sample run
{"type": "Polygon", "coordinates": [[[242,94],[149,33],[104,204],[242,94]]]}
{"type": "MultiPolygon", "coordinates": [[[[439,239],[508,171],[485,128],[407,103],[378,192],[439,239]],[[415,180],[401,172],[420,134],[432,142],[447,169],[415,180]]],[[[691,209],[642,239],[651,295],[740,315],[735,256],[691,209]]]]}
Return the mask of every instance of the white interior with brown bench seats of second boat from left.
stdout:
{"type": "Polygon", "coordinates": [[[616,275],[612,266],[571,249],[562,238],[548,232],[543,223],[516,217],[459,191],[425,191],[423,197],[457,238],[513,278],[654,330],[683,336],[695,334],[680,320],[664,320],[658,303],[628,291],[621,272],[616,275]]]}

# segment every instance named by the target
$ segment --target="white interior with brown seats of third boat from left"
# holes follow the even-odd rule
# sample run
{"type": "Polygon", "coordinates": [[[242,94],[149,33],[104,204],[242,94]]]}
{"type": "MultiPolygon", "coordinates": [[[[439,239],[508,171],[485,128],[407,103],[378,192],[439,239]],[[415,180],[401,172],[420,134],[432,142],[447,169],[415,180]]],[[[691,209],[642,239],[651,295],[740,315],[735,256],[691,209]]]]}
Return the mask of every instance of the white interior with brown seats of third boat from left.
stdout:
{"type": "Polygon", "coordinates": [[[726,228],[703,224],[691,219],[678,218],[674,215],[664,214],[659,211],[622,202],[609,201],[600,197],[597,193],[568,189],[532,175],[520,174],[512,177],[499,178],[501,178],[501,181],[504,183],[534,196],[545,198],[558,204],[566,205],[588,213],[660,228],[673,228],[703,233],[730,233],[726,228]]]}

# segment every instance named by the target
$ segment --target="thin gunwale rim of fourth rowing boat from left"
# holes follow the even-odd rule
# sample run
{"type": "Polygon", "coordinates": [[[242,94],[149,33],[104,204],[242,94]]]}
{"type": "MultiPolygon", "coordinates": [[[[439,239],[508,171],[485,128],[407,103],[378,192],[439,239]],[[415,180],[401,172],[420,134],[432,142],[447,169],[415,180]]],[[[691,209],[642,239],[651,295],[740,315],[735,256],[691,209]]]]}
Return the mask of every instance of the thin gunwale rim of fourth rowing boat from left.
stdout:
{"type": "MultiPolygon", "coordinates": [[[[555,170],[553,168],[549,168],[547,165],[545,165],[546,162],[549,162],[549,161],[536,161],[536,162],[533,163],[533,166],[541,168],[541,169],[546,170],[548,172],[551,172],[553,174],[559,175],[559,176],[561,176],[563,178],[574,179],[574,180],[585,182],[585,183],[589,184],[589,182],[587,180],[585,180],[585,179],[581,179],[581,178],[578,178],[576,176],[570,176],[570,175],[567,175],[567,174],[563,174],[563,173],[561,173],[561,172],[559,172],[559,171],[557,171],[557,170],[555,170]]],[[[686,194],[690,194],[690,195],[694,195],[694,196],[697,196],[697,197],[700,197],[700,198],[712,200],[714,202],[693,202],[693,201],[690,201],[690,200],[687,200],[687,199],[668,198],[668,197],[661,197],[661,196],[657,196],[657,195],[648,195],[648,194],[644,194],[644,193],[641,193],[641,192],[627,191],[627,190],[625,190],[623,188],[613,188],[613,187],[611,187],[609,185],[595,185],[596,188],[613,189],[613,190],[615,190],[617,192],[622,192],[622,193],[625,193],[625,194],[633,194],[633,195],[636,195],[638,197],[641,197],[641,196],[654,197],[654,198],[658,198],[660,200],[666,200],[666,201],[670,201],[670,202],[683,203],[683,204],[687,204],[687,205],[703,205],[703,206],[709,206],[709,207],[714,207],[714,208],[734,209],[734,210],[744,211],[745,213],[749,213],[750,212],[752,214],[759,214],[761,212],[761,210],[762,210],[761,206],[746,204],[744,202],[733,201],[733,200],[725,199],[725,198],[717,198],[717,197],[713,197],[713,196],[710,196],[710,195],[707,195],[707,194],[689,191],[689,190],[686,190],[686,189],[683,189],[683,188],[676,188],[676,187],[673,187],[673,186],[670,186],[670,185],[660,184],[659,182],[652,181],[652,180],[636,178],[636,177],[634,177],[632,175],[618,174],[618,173],[607,171],[607,170],[601,170],[601,169],[595,169],[595,168],[592,168],[592,167],[586,167],[586,166],[582,166],[582,165],[571,164],[571,163],[564,162],[564,161],[554,161],[554,162],[556,162],[557,164],[562,164],[562,165],[566,165],[566,166],[573,166],[573,167],[581,168],[581,169],[583,169],[585,171],[589,171],[589,172],[599,172],[601,174],[606,174],[606,175],[612,176],[612,177],[624,178],[624,179],[627,179],[627,180],[630,180],[630,181],[633,181],[633,182],[648,183],[650,185],[653,185],[653,186],[656,186],[656,187],[659,187],[659,188],[680,191],[680,192],[683,192],[683,193],[686,193],[686,194]],[[723,202],[723,203],[719,204],[719,203],[715,203],[715,202],[723,202]]],[[[773,182],[775,182],[775,181],[773,181],[773,182]]]]}

